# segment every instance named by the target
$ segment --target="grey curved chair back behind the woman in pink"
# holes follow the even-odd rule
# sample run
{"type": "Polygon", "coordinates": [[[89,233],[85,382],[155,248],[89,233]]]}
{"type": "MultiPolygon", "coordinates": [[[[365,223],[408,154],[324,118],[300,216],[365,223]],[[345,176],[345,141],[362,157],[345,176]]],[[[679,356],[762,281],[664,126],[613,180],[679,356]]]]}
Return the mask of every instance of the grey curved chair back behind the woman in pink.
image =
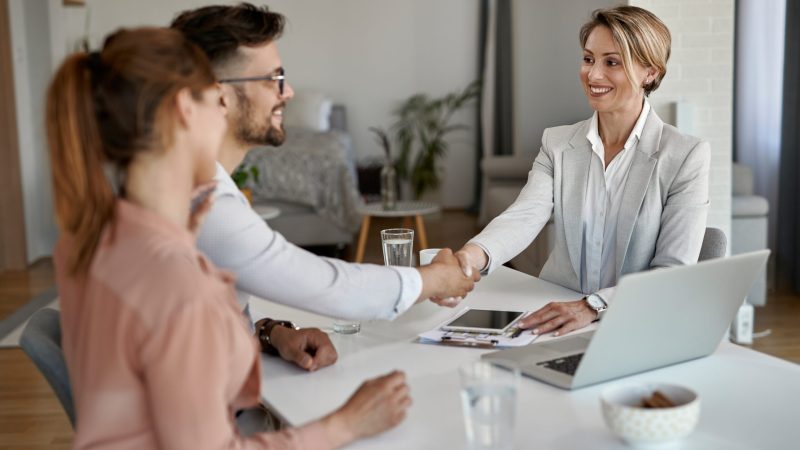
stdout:
{"type": "Polygon", "coordinates": [[[75,406],[69,385],[67,364],[61,349],[61,322],[59,312],[52,308],[37,311],[22,331],[19,343],[25,354],[55,391],[72,428],[75,428],[75,406]]]}

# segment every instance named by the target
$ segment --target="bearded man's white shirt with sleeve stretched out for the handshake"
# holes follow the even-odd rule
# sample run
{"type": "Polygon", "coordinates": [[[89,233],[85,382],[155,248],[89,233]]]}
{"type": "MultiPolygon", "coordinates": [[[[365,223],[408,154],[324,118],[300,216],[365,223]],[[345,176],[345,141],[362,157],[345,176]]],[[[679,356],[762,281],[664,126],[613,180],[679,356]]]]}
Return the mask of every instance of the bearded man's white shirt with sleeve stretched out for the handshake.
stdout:
{"type": "Polygon", "coordinates": [[[413,267],[351,264],[297,247],[253,211],[219,163],[214,179],[214,205],[197,246],[215,265],[236,274],[245,312],[252,294],[326,316],[391,320],[422,292],[413,267]]]}

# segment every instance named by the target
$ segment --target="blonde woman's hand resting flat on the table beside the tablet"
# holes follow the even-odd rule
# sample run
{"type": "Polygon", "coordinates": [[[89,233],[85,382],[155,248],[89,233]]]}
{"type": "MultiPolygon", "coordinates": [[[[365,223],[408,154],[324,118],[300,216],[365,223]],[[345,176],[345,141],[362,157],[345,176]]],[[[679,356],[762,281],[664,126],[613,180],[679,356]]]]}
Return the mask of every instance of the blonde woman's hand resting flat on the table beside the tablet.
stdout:
{"type": "Polygon", "coordinates": [[[596,318],[597,313],[584,298],[573,302],[550,302],[520,320],[519,325],[525,329],[533,328],[533,334],[555,330],[553,336],[561,336],[589,325],[596,318]]]}

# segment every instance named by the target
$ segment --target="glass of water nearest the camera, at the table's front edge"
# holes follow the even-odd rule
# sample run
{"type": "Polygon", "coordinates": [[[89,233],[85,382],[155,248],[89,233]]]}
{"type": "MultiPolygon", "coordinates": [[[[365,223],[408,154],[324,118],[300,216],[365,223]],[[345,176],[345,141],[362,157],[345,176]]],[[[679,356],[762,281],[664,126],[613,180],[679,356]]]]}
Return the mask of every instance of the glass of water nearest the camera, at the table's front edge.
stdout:
{"type": "Polygon", "coordinates": [[[460,367],[459,375],[467,448],[514,448],[519,370],[478,361],[460,367]]]}

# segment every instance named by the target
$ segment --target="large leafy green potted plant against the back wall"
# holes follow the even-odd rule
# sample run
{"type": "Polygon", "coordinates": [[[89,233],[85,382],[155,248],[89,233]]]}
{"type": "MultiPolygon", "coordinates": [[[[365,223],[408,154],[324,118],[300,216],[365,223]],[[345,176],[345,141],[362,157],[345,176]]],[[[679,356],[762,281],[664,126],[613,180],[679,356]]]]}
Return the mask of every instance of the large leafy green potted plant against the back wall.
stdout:
{"type": "Polygon", "coordinates": [[[397,174],[410,183],[415,198],[439,187],[441,177],[437,163],[447,153],[445,137],[468,128],[463,124],[451,124],[453,114],[477,98],[480,90],[480,81],[474,81],[462,91],[439,98],[416,94],[394,111],[397,120],[392,129],[400,146],[397,174]]]}

